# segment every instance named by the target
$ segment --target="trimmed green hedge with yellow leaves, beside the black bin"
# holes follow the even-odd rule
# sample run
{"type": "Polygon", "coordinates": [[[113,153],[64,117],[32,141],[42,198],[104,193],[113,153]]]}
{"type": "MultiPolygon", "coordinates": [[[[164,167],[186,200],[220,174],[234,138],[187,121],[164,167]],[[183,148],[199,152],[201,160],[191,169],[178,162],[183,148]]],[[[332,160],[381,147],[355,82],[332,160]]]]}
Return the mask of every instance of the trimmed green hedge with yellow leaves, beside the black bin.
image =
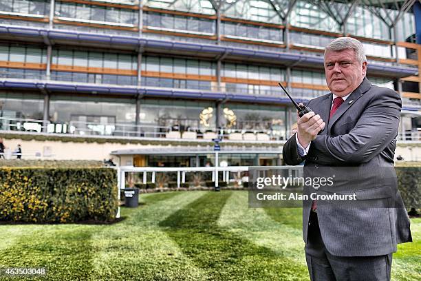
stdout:
{"type": "Polygon", "coordinates": [[[111,221],[117,196],[114,169],[0,169],[0,221],[111,221]]]}

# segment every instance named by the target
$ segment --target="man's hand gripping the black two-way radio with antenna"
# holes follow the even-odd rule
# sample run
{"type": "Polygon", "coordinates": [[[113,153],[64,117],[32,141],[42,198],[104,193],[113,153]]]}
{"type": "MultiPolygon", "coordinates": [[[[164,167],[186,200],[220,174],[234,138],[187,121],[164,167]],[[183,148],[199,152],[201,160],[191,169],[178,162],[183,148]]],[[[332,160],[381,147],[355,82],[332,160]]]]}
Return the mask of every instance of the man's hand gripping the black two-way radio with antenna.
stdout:
{"type": "Polygon", "coordinates": [[[300,145],[305,149],[310,145],[317,134],[325,127],[326,123],[319,114],[308,112],[296,122],[298,131],[296,132],[300,145]]]}

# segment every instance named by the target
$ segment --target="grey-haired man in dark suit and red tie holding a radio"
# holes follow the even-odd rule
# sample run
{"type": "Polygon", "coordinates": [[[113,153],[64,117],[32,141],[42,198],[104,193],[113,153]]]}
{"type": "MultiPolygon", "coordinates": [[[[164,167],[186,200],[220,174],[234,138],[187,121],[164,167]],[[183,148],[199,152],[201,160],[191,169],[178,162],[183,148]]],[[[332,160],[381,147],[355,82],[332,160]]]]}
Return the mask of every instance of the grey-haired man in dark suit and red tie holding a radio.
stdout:
{"type": "MultiPolygon", "coordinates": [[[[305,177],[333,176],[334,185],[318,194],[350,194],[358,204],[303,200],[310,278],[390,280],[396,244],[412,240],[393,168],[400,96],[367,80],[363,44],[356,39],[327,45],[324,65],[331,92],[308,103],[314,112],[298,118],[283,159],[288,165],[305,160],[305,177]]],[[[305,186],[304,194],[314,191],[305,186]]]]}

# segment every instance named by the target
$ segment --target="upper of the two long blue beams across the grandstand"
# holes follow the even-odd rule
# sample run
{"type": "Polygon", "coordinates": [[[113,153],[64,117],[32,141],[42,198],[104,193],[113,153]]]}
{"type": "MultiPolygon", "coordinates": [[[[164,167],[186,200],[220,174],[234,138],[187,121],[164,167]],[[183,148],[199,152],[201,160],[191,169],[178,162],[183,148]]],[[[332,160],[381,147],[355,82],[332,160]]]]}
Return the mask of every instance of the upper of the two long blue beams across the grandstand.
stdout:
{"type": "MultiPolygon", "coordinates": [[[[247,48],[237,48],[222,45],[210,45],[191,42],[174,42],[158,39],[147,39],[139,37],[120,36],[114,34],[93,34],[88,32],[74,32],[70,30],[47,30],[43,28],[16,27],[11,25],[0,25],[0,34],[9,34],[12,36],[32,36],[47,37],[51,40],[83,41],[93,43],[108,43],[115,45],[133,45],[143,46],[150,49],[164,49],[178,52],[202,52],[215,54],[227,54],[227,58],[235,56],[243,59],[266,59],[268,61],[277,61],[284,65],[312,66],[323,68],[323,57],[312,56],[309,54],[296,54],[288,52],[270,52],[261,50],[251,50],[247,48]]],[[[418,69],[415,67],[404,67],[401,65],[382,65],[369,63],[368,71],[370,74],[377,74],[391,78],[400,78],[415,75],[418,69]]]]}

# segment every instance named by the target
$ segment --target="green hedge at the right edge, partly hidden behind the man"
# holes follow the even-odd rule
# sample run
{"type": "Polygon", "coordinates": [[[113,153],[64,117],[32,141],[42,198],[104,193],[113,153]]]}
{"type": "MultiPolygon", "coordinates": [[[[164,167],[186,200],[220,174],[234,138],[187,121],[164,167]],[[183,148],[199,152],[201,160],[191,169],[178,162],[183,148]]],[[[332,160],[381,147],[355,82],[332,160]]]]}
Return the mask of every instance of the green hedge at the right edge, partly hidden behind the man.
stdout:
{"type": "Polygon", "coordinates": [[[398,187],[407,209],[421,208],[421,167],[395,167],[398,187]]]}

